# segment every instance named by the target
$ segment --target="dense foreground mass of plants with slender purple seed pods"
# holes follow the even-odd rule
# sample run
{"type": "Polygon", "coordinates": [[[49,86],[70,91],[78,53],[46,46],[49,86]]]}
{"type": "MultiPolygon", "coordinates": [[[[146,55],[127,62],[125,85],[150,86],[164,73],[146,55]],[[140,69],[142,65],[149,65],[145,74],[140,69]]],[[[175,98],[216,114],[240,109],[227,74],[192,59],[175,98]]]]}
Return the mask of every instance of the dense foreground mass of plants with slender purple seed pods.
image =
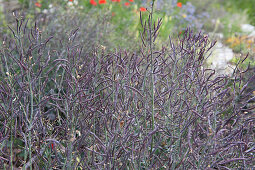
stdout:
{"type": "Polygon", "coordinates": [[[1,168],[255,166],[254,97],[244,93],[254,76],[204,68],[216,42],[190,29],[156,49],[162,19],[153,4],[148,12],[138,52],[83,48],[79,29],[44,38],[16,18],[0,48],[1,168]]]}

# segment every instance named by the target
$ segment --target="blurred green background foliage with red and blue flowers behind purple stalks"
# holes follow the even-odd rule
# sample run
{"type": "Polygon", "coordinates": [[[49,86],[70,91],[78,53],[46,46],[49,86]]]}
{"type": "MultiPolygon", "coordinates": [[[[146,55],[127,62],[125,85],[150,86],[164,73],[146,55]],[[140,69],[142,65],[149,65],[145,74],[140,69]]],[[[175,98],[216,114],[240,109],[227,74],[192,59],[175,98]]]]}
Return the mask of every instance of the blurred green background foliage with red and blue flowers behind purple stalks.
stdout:
{"type": "MultiPolygon", "coordinates": [[[[104,39],[102,44],[98,44],[109,50],[114,50],[115,47],[128,49],[139,47],[137,45],[140,40],[139,31],[141,30],[138,22],[139,11],[141,8],[144,9],[143,15],[146,17],[148,15],[146,8],[150,7],[152,1],[19,0],[18,2],[25,18],[30,18],[33,21],[44,17],[52,23],[61,23],[63,18],[65,18],[66,23],[73,23],[73,20],[76,20],[76,23],[81,23],[85,19],[87,24],[83,25],[86,25],[87,28],[91,23],[96,22],[101,25],[100,22],[104,22],[108,26],[103,29],[100,29],[100,26],[98,27],[97,31],[101,32],[102,36],[97,37],[97,40],[104,39]],[[73,18],[74,16],[76,17],[73,18]],[[68,19],[70,19],[70,22],[68,19]]],[[[207,33],[223,33],[224,39],[227,40],[233,37],[235,33],[241,32],[241,24],[252,23],[254,17],[251,15],[251,6],[253,6],[253,3],[252,0],[245,0],[245,2],[240,0],[157,0],[155,18],[163,18],[157,44],[165,43],[171,33],[174,33],[173,35],[177,37],[186,27],[198,31],[203,30],[207,33]]],[[[9,19],[5,20],[6,23],[7,21],[9,19]]],[[[45,26],[47,26],[46,23],[45,26]]],[[[63,31],[59,32],[66,32],[69,27],[65,27],[61,28],[60,30],[63,31]]],[[[81,30],[84,30],[84,34],[89,34],[89,30],[95,31],[94,29],[86,29],[85,32],[85,29],[82,28],[81,30]]]]}

